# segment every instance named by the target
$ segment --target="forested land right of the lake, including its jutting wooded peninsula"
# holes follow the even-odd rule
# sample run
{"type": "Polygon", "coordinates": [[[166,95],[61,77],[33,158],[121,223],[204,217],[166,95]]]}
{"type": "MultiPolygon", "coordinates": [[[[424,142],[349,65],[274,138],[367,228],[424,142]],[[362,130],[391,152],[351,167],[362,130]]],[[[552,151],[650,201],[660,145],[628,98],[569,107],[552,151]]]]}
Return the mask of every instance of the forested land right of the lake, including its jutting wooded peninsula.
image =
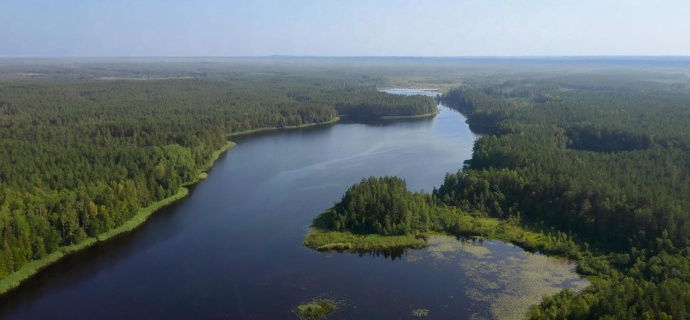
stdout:
{"type": "Polygon", "coordinates": [[[439,99],[485,134],[465,167],[430,194],[395,177],[363,179],[314,220],[305,244],[358,251],[422,247],[428,232],[498,238],[577,259],[592,282],[546,298],[529,318],[688,319],[684,72],[468,79],[439,99]]]}

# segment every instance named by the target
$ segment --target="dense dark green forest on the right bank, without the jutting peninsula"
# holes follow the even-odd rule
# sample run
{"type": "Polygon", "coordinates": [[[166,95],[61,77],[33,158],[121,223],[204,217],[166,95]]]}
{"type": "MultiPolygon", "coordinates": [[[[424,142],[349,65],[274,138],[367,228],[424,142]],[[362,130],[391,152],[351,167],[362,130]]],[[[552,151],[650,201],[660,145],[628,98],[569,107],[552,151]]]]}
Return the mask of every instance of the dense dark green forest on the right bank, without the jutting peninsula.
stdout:
{"type": "Polygon", "coordinates": [[[611,74],[468,84],[442,97],[493,135],[433,194],[573,234],[593,275],[535,319],[690,318],[690,90],[611,74]]]}

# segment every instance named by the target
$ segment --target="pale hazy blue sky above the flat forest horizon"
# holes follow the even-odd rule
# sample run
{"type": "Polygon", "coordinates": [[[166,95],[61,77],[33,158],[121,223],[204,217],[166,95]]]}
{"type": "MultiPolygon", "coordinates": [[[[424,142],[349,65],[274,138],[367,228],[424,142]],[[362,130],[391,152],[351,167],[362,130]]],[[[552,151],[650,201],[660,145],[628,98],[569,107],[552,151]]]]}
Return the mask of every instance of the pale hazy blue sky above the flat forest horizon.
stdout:
{"type": "Polygon", "coordinates": [[[687,0],[0,0],[0,56],[690,56],[687,0]]]}

